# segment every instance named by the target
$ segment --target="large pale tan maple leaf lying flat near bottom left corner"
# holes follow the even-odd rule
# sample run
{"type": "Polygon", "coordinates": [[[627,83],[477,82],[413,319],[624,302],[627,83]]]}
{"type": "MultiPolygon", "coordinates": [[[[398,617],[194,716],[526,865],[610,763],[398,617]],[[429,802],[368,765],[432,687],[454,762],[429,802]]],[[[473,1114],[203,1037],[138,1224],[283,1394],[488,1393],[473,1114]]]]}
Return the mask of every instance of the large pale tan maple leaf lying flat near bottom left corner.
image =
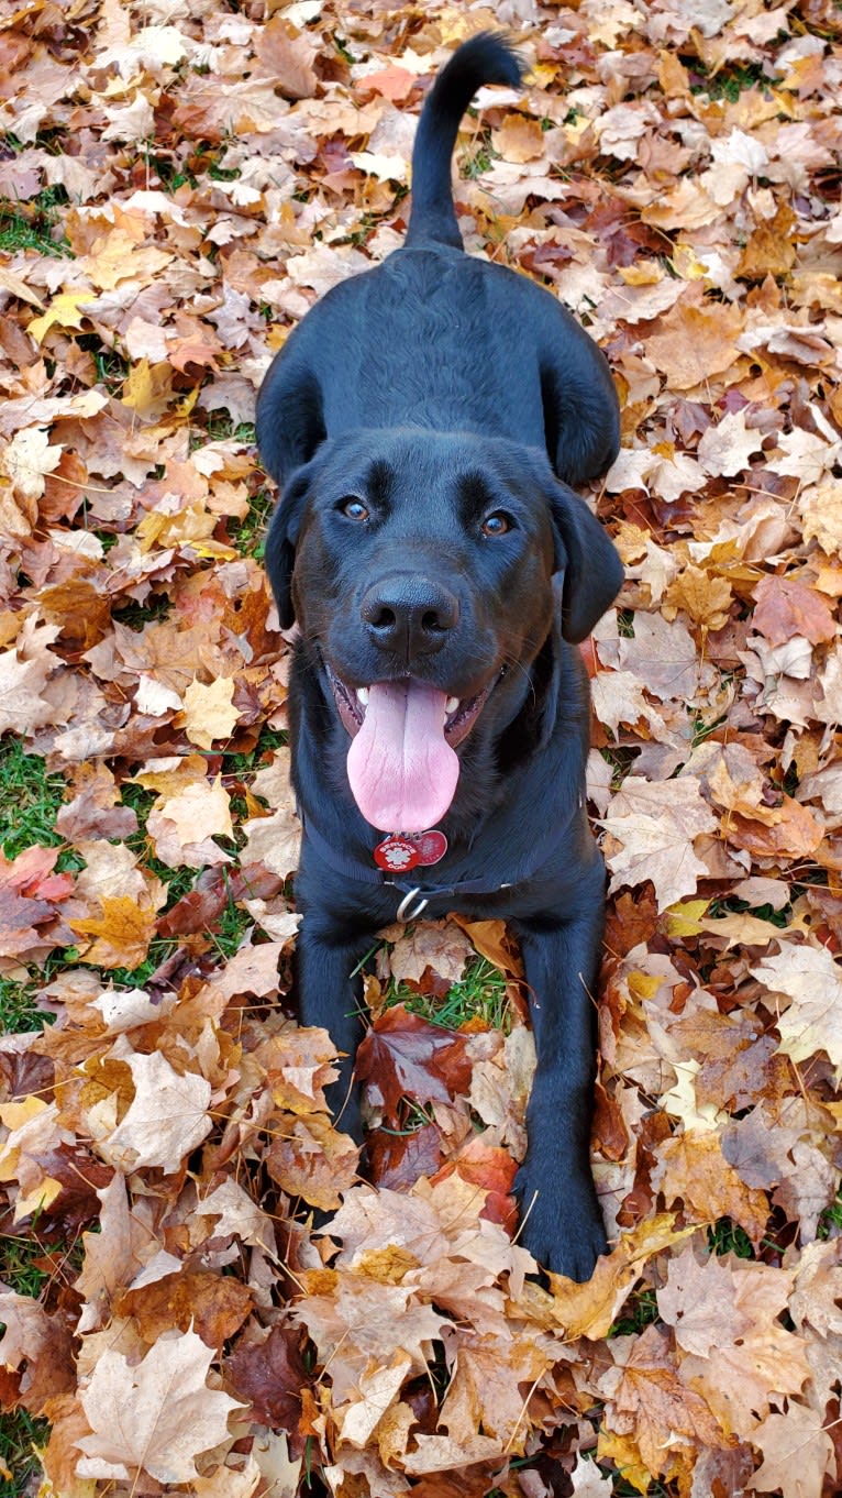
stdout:
{"type": "Polygon", "coordinates": [[[195,1332],[166,1332],[132,1366],[106,1348],[81,1393],[90,1435],[76,1440],[79,1477],[129,1479],[147,1471],[160,1483],[187,1483],[196,1456],[223,1441],[241,1405],[208,1389],[213,1351],[195,1332]]]}

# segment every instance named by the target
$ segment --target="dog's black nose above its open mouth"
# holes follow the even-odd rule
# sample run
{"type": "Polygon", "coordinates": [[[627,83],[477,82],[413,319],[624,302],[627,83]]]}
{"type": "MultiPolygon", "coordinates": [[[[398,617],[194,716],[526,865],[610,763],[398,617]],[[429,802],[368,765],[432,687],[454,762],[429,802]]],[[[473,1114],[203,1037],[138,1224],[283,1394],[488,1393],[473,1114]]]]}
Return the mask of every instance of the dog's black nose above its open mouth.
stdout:
{"type": "Polygon", "coordinates": [[[393,572],[367,590],[360,613],[381,650],[412,659],[442,649],[458,623],[458,599],[428,577],[393,572]]]}

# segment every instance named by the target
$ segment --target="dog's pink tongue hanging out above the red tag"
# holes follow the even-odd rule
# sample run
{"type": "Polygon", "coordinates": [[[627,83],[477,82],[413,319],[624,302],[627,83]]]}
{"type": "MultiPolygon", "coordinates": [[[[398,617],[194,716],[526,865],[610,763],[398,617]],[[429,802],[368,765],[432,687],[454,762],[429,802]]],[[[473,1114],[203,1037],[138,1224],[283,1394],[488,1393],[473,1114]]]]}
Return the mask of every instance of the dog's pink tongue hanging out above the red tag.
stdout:
{"type": "Polygon", "coordinates": [[[445,692],[421,682],[381,682],[348,750],[354,800],[384,833],[422,833],[452,801],[458,756],[445,740],[445,692]]]}

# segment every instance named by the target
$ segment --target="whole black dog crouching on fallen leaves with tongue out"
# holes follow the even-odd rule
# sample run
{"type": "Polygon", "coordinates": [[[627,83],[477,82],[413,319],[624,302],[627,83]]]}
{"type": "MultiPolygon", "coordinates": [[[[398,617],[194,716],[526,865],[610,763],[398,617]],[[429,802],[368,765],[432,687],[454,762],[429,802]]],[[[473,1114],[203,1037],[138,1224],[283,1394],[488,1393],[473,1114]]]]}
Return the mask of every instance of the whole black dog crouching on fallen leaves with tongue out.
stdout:
{"type": "Polygon", "coordinates": [[[487,34],[424,105],[405,247],[322,298],[259,395],[283,485],[267,568],[285,628],[301,629],[297,981],[303,1022],[348,1053],[331,1104],[360,1140],[351,974],[373,933],[448,911],[512,923],[538,1047],[523,1239],[584,1279],[605,1249],[589,1167],[604,866],[571,643],[622,569],[568,484],[614,458],[617,398],[547,291],[463,252],[449,159],[484,82],[520,82],[487,34]]]}

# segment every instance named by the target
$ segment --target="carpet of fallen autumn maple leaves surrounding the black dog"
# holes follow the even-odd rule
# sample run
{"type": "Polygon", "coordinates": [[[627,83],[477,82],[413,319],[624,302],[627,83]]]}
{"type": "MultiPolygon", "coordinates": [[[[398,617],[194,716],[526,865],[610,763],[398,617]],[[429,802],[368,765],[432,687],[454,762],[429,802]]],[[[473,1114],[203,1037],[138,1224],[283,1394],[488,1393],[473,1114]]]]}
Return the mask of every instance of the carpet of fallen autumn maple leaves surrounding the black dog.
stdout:
{"type": "Polygon", "coordinates": [[[40,1290],[0,1294],[0,1393],[49,1422],[40,1494],[838,1491],[839,15],[3,3],[0,1233],[40,1290]],[[628,581],[587,647],[614,1248],[581,1287],[511,1237],[499,927],[373,959],[379,1191],[286,1004],[255,391],[400,243],[424,88],[500,22],[530,82],[464,121],[466,243],[623,401],[595,497],[628,581]],[[499,1023],[433,1023],[478,953],[499,1023]]]}

